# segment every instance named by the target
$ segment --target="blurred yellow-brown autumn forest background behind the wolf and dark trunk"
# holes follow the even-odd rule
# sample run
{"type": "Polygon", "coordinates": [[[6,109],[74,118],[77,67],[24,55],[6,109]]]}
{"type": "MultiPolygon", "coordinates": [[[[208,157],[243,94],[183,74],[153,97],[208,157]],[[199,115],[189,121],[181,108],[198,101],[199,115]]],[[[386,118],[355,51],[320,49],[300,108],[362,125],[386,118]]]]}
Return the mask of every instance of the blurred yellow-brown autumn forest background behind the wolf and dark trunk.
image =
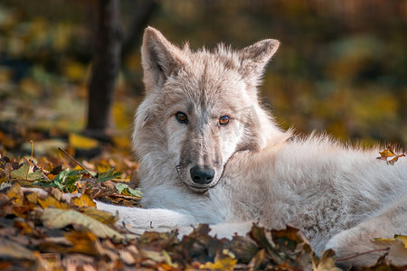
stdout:
{"type": "MultiPolygon", "coordinates": [[[[362,145],[407,145],[405,0],[119,3],[123,47],[109,135],[123,150],[143,95],[139,47],[147,24],[193,48],[278,39],[261,93],[281,126],[362,145]]],[[[97,5],[0,1],[0,153],[31,152],[31,139],[38,148],[52,137],[71,141],[85,128],[97,5]]]]}

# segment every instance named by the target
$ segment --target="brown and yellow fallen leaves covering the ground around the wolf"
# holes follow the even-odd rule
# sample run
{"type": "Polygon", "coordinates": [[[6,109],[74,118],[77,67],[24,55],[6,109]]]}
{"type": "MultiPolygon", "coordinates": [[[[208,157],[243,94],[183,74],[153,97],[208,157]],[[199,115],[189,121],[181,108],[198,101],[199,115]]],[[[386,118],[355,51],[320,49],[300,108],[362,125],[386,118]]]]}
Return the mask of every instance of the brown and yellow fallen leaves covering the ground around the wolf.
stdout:
{"type": "MultiPolygon", "coordinates": [[[[232,240],[211,237],[204,224],[183,238],[176,230],[136,235],[118,227],[114,215],[96,209],[94,200],[140,207],[142,193],[132,188],[128,173],[111,167],[112,161],[84,161],[85,169],[76,163],[64,168],[70,163],[52,157],[34,160],[0,156],[0,269],[339,270],[334,251],[317,257],[291,227],[253,224],[247,236],[232,240]]],[[[399,246],[407,257],[406,239],[373,241],[399,246]]],[[[393,266],[383,253],[374,266],[353,269],[405,268],[393,266]]]]}

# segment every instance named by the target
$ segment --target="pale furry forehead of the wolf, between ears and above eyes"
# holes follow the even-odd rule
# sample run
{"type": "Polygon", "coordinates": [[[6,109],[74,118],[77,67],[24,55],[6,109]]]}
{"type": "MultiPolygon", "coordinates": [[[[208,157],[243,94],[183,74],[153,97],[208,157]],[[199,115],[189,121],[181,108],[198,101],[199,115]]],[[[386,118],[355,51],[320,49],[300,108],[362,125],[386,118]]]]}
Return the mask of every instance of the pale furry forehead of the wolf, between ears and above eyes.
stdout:
{"type": "Polygon", "coordinates": [[[247,106],[245,89],[235,61],[202,52],[192,54],[190,61],[169,80],[166,97],[184,104],[189,112],[220,111],[247,106]]]}

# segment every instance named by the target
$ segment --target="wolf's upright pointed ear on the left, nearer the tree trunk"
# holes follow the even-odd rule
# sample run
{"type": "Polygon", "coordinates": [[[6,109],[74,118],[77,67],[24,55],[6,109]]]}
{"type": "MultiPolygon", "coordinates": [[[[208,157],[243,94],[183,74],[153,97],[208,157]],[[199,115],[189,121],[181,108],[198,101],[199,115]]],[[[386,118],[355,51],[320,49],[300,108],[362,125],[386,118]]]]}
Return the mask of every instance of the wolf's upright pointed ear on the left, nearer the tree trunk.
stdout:
{"type": "Polygon", "coordinates": [[[143,36],[141,61],[148,94],[152,89],[162,87],[166,79],[182,66],[181,50],[149,26],[143,36]]]}

